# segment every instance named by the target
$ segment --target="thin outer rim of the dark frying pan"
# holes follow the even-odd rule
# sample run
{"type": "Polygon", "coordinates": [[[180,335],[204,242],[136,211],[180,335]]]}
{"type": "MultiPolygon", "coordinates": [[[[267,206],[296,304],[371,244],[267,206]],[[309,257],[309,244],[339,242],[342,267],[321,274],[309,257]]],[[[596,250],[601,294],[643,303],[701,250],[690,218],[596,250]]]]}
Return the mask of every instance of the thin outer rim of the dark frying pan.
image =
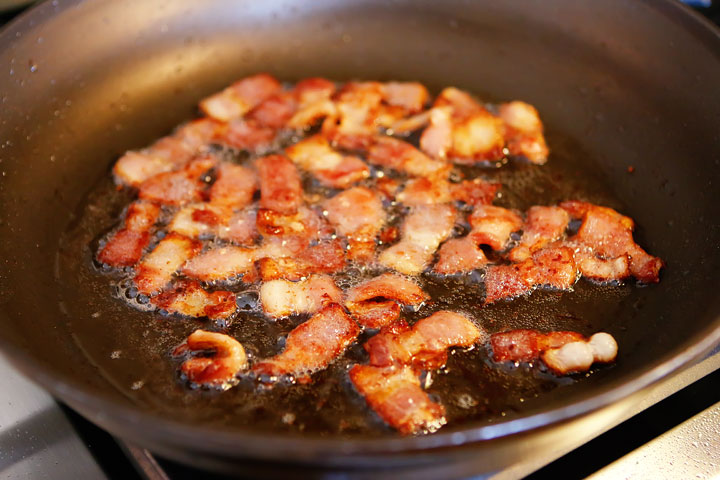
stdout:
{"type": "MultiPolygon", "coordinates": [[[[34,26],[39,25],[47,18],[61,13],[65,9],[78,3],[81,2],[77,0],[68,1],[55,10],[49,8],[50,2],[33,7],[0,31],[0,44],[8,44],[12,37],[11,33],[15,31],[25,32],[30,28],[34,28],[34,26]]],[[[692,30],[692,33],[701,37],[701,41],[712,42],[720,46],[720,29],[698,13],[692,11],[689,7],[675,0],[646,0],[645,3],[655,10],[662,11],[666,16],[672,16],[673,18],[681,17],[681,20],[677,21],[684,22],[684,27],[688,31],[692,30]]],[[[720,48],[718,48],[717,51],[720,51],[720,48]]],[[[5,313],[2,312],[2,315],[5,316],[5,313]]],[[[252,447],[256,441],[257,443],[262,443],[262,440],[272,440],[274,442],[276,445],[273,451],[274,455],[273,453],[267,452],[267,449],[258,448],[255,451],[248,451],[249,455],[256,457],[277,456],[277,452],[281,450],[283,453],[293,453],[295,447],[298,446],[298,441],[305,444],[312,443],[312,450],[323,456],[359,455],[368,453],[412,452],[487,441],[523,432],[531,432],[540,427],[576,418],[610,405],[613,402],[649,387],[663,377],[678,371],[683,366],[688,366],[690,362],[699,358],[702,354],[717,345],[718,342],[720,342],[720,315],[709,315],[714,315],[715,318],[712,322],[709,322],[708,327],[702,332],[688,339],[676,349],[669,351],[652,366],[634,375],[629,375],[623,384],[608,388],[606,391],[601,391],[591,398],[528,417],[498,422],[493,425],[481,427],[473,427],[470,425],[458,430],[441,430],[434,435],[424,437],[351,438],[343,439],[342,442],[338,442],[337,437],[316,438],[310,435],[303,435],[302,437],[287,436],[287,438],[283,438],[273,433],[243,432],[241,430],[233,432],[218,431],[199,425],[184,424],[150,413],[135,411],[131,407],[123,405],[114,399],[88,394],[82,390],[81,382],[74,379],[64,380],[55,378],[45,371],[41,362],[26,352],[23,352],[18,347],[10,344],[9,341],[4,338],[0,338],[0,354],[7,356],[11,363],[19,367],[24,374],[50,391],[51,394],[60,400],[80,410],[83,415],[88,415],[88,411],[98,412],[96,416],[91,417],[91,419],[100,425],[109,425],[111,424],[110,420],[114,419],[116,424],[124,422],[128,425],[143,426],[143,430],[145,431],[148,430],[148,426],[152,426],[154,439],[162,439],[164,437],[168,443],[177,445],[192,443],[198,450],[216,454],[226,453],[233,456],[238,453],[238,440],[240,439],[244,440],[243,445],[247,447],[252,447]],[[207,435],[208,433],[212,435],[207,435]],[[458,433],[463,435],[460,441],[458,440],[460,438],[457,436],[458,433]],[[197,442],[198,436],[204,436],[202,443],[197,442]]],[[[303,449],[297,449],[298,456],[302,456],[305,451],[306,450],[303,449]]]]}

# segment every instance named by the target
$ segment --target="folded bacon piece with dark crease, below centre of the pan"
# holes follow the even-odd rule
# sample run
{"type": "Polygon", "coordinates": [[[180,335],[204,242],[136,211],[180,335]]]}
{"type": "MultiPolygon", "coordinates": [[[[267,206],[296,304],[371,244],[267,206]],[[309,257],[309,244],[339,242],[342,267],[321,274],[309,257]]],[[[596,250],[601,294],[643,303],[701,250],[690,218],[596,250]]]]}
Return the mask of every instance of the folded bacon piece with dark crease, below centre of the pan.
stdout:
{"type": "Polygon", "coordinates": [[[400,305],[419,305],[428,299],[423,290],[405,277],[384,273],[348,290],[345,306],[367,328],[380,328],[400,317],[400,305]]]}

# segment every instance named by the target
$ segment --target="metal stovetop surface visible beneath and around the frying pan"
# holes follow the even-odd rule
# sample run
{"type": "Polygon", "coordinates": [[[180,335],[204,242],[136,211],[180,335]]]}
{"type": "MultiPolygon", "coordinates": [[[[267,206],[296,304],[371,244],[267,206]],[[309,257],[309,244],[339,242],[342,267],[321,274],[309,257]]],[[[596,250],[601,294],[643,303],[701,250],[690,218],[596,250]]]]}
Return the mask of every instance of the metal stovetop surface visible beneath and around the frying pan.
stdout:
{"type": "MultiPolygon", "coordinates": [[[[686,3],[720,25],[720,1],[686,3]]],[[[18,13],[0,12],[0,26],[18,13]]],[[[0,372],[0,479],[225,478],[113,438],[23,378],[2,356],[0,372]]],[[[649,390],[619,422],[599,427],[589,441],[578,439],[571,451],[527,458],[475,479],[720,478],[720,345],[649,390]]]]}

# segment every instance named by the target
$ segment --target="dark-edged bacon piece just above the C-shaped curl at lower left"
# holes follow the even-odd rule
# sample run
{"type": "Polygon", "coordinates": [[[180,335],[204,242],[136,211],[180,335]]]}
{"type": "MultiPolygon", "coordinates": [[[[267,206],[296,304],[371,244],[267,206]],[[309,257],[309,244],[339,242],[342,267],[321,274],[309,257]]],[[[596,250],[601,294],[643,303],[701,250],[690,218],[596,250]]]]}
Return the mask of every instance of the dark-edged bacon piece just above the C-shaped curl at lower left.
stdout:
{"type": "Polygon", "coordinates": [[[169,313],[187,317],[207,317],[224,320],[235,313],[235,294],[232,292],[208,292],[198,282],[182,280],[172,290],[162,292],[150,299],[158,308],[169,313]]]}

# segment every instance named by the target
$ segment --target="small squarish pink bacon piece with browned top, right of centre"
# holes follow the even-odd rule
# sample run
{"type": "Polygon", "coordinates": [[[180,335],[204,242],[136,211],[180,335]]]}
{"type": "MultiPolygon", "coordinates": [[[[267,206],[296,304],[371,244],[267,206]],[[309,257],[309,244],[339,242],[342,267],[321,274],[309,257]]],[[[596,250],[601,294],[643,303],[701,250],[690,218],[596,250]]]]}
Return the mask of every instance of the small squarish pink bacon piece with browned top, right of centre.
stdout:
{"type": "Polygon", "coordinates": [[[505,248],[510,234],[522,227],[522,218],[507,208],[477,205],[470,215],[472,231],[469,236],[479,245],[493,250],[505,248]]]}

